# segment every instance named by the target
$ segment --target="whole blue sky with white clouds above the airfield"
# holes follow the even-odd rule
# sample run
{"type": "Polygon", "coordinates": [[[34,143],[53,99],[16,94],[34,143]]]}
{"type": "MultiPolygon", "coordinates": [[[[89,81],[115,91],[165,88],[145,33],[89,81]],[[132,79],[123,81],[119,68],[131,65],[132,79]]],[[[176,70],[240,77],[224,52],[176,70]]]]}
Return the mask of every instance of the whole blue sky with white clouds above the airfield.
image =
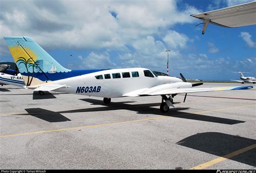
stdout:
{"type": "MultiPolygon", "coordinates": [[[[252,0],[251,0],[252,1],[252,0]]],[[[4,36],[28,36],[69,69],[144,67],[202,80],[256,77],[256,25],[226,28],[190,15],[246,0],[1,0],[0,62],[14,60],[4,36]],[[71,56],[72,55],[72,56],[71,56]]]]}

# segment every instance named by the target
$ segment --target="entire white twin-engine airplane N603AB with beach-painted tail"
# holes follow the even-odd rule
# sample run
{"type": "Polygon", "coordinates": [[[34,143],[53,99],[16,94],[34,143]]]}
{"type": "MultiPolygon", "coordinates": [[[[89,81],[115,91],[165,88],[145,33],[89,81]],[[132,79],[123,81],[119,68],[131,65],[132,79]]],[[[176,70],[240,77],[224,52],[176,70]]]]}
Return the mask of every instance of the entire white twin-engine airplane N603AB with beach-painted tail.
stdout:
{"type": "Polygon", "coordinates": [[[103,97],[105,104],[111,98],[161,96],[161,112],[173,106],[173,97],[178,93],[245,90],[253,86],[228,86],[217,88],[193,88],[203,83],[191,84],[181,78],[158,76],[146,68],[69,70],[62,67],[29,37],[4,37],[14,58],[26,89],[57,91],[85,96],[103,97]],[[54,70],[52,70],[54,69],[54,70]]]}

